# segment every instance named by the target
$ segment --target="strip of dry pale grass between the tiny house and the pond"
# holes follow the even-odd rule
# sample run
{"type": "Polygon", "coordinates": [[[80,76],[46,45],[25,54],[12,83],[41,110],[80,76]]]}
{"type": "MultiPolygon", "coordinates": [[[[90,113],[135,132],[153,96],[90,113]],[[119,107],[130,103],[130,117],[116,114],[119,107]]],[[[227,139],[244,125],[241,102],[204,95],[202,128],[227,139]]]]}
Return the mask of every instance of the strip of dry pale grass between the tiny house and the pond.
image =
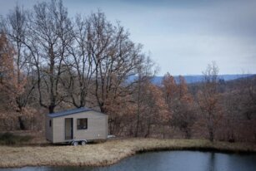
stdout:
{"type": "Polygon", "coordinates": [[[23,166],[104,166],[144,151],[154,150],[216,150],[253,152],[256,145],[214,142],[202,139],[113,139],[85,146],[0,146],[0,167],[23,166]]]}

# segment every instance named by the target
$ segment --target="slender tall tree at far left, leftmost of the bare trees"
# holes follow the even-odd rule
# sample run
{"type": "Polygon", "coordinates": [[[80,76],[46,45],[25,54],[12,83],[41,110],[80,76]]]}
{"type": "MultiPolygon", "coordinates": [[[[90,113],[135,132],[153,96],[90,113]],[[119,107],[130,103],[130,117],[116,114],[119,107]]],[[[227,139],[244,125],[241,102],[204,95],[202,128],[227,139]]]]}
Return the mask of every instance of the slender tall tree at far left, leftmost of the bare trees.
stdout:
{"type": "Polygon", "coordinates": [[[23,86],[23,93],[16,98],[19,112],[23,113],[23,108],[28,104],[28,100],[35,88],[35,83],[31,77],[31,56],[24,43],[26,37],[28,37],[28,12],[23,10],[23,7],[16,6],[13,11],[8,13],[3,23],[3,30],[7,33],[8,41],[12,43],[15,51],[13,61],[17,70],[18,85],[23,86]]]}

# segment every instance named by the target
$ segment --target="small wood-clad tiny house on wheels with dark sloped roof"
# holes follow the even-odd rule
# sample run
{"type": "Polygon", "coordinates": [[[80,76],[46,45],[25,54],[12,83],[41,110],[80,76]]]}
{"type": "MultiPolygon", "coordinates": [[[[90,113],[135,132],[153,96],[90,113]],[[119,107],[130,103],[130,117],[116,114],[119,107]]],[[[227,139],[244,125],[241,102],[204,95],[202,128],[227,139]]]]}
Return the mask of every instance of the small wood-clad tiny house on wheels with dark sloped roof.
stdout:
{"type": "Polygon", "coordinates": [[[92,109],[64,110],[46,117],[46,139],[53,144],[86,144],[107,136],[108,115],[92,109]]]}

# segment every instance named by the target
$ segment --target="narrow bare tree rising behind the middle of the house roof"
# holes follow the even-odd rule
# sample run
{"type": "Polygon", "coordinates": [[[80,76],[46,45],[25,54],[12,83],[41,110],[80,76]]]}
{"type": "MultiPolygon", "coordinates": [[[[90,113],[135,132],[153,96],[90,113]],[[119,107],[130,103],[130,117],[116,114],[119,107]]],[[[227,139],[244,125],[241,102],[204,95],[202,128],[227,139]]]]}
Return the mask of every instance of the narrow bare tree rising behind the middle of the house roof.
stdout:
{"type": "Polygon", "coordinates": [[[78,15],[73,26],[73,44],[67,47],[70,56],[66,60],[68,81],[63,79],[63,85],[68,90],[72,104],[76,107],[83,107],[88,102],[87,97],[90,93],[89,90],[91,90],[93,74],[96,69],[88,46],[90,22],[85,17],[82,18],[78,15]]]}

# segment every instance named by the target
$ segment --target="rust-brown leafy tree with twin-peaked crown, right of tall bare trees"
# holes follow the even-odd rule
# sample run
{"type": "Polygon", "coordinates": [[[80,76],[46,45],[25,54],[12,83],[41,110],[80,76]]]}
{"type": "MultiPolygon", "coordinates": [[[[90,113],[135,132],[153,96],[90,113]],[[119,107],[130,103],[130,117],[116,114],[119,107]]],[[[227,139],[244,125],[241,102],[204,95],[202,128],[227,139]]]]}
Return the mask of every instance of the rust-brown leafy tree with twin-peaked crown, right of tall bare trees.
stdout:
{"type": "Polygon", "coordinates": [[[195,122],[195,113],[188,85],[183,76],[178,76],[176,83],[169,73],[163,77],[162,85],[165,103],[168,105],[169,124],[183,131],[185,138],[189,139],[195,122]]]}

